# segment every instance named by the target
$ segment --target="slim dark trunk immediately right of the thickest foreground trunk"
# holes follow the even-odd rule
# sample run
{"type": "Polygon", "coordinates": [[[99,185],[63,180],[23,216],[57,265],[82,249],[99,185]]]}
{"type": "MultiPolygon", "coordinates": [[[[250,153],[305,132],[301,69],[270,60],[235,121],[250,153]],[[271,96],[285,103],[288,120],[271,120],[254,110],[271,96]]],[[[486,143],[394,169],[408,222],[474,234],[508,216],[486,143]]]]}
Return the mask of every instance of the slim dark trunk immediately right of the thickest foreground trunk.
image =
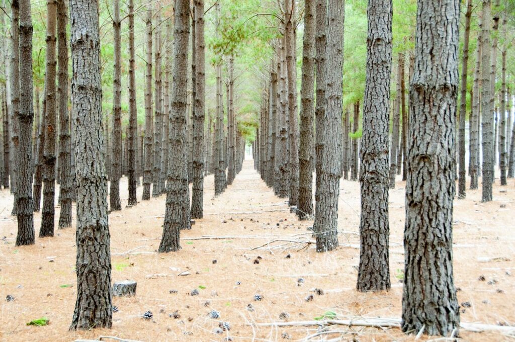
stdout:
{"type": "Polygon", "coordinates": [[[466,196],[466,174],[467,166],[465,165],[465,117],[467,116],[467,75],[469,63],[469,36],[470,36],[470,18],[472,16],[472,0],[467,2],[467,12],[465,14],[465,34],[463,40],[463,59],[461,62],[461,95],[459,107],[459,150],[458,150],[458,198],[466,196]]]}

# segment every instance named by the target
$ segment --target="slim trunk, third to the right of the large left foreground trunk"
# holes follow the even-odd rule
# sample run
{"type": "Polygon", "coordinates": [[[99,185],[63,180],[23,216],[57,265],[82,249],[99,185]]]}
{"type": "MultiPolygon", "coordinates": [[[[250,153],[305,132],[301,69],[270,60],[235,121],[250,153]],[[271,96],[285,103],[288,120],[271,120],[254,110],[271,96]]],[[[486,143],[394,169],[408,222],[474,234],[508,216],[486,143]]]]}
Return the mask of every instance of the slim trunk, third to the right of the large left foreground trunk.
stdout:
{"type": "MultiPolygon", "coordinates": [[[[142,200],[150,199],[150,183],[152,182],[152,10],[147,10],[147,69],[145,74],[145,171],[143,174],[142,200]]],[[[154,184],[154,186],[156,186],[154,184]]]]}

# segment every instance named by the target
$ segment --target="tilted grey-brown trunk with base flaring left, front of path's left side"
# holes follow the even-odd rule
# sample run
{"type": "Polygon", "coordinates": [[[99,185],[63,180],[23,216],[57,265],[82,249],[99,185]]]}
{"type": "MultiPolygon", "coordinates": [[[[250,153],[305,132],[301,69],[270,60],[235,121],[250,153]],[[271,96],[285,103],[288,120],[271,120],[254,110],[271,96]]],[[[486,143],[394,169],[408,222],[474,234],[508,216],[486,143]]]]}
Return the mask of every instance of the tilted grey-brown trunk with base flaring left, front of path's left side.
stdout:
{"type": "Polygon", "coordinates": [[[188,0],[175,2],[175,46],[171,94],[170,146],[166,211],[163,236],[158,252],[180,249],[181,229],[190,229],[190,188],[187,177],[186,151],[186,87],[188,35],[190,34],[190,7],[188,0]]]}

